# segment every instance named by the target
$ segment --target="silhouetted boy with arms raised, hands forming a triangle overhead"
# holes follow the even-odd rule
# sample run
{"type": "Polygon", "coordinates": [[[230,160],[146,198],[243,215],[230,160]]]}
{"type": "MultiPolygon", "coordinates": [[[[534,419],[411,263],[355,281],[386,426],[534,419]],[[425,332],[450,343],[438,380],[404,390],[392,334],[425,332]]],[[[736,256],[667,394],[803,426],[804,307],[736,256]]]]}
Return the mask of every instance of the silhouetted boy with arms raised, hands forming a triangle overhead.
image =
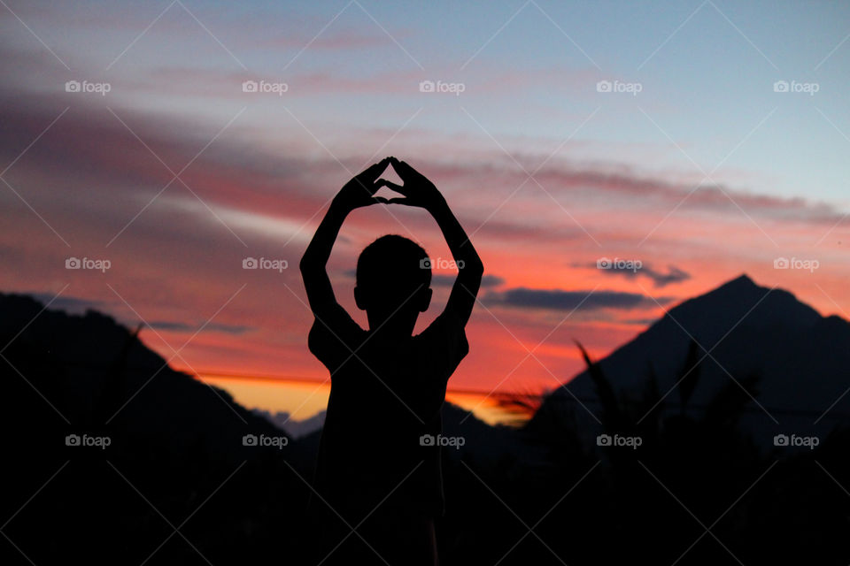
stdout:
{"type": "Polygon", "coordinates": [[[464,326],[481,285],[481,259],[437,187],[388,157],[336,195],[305,251],[301,273],[315,315],[309,348],[331,376],[316,465],[321,501],[312,502],[322,508],[320,558],[435,564],[434,518],[443,512],[443,486],[440,448],[432,440],[442,429],[446,382],[468,353],[464,326]],[[388,164],[404,186],[378,180],[388,164]],[[383,186],[404,198],[375,197],[383,186]],[[431,299],[430,260],[419,245],[387,235],[360,254],[354,298],[366,310],[369,330],[336,302],[325,271],[345,217],[374,203],[428,210],[459,268],[445,310],[415,336],[416,319],[431,299]]]}

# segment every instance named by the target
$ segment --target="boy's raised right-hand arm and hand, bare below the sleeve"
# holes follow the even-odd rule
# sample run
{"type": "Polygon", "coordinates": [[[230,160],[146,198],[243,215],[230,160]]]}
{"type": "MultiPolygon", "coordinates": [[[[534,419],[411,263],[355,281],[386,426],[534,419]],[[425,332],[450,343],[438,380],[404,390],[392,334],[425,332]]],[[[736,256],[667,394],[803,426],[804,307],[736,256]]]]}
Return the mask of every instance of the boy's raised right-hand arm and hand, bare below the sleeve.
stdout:
{"type": "Polygon", "coordinates": [[[428,210],[437,221],[437,226],[443,232],[458,267],[458,278],[455,279],[452,293],[449,294],[445,312],[457,317],[461,325],[466,325],[475,306],[475,296],[481,287],[484,272],[481,258],[434,183],[404,161],[390,157],[390,163],[405,184],[398,186],[389,181],[384,184],[405,195],[405,198],[391,198],[388,203],[419,206],[428,210]]]}

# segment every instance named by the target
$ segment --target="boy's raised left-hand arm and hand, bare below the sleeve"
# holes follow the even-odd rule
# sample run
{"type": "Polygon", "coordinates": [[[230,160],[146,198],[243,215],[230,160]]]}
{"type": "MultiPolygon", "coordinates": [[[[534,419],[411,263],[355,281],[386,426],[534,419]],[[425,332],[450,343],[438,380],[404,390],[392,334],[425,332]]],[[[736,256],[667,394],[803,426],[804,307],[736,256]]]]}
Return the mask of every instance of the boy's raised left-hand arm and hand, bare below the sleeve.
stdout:
{"type": "Polygon", "coordinates": [[[386,199],[375,196],[375,192],[383,186],[381,182],[375,182],[375,180],[389,163],[390,158],[387,157],[371,165],[366,171],[359,173],[340,189],[334,200],[331,201],[328,212],[325,214],[325,218],[322,218],[319,228],[313,235],[313,240],[310,241],[304,252],[304,256],[301,257],[301,277],[304,279],[307,301],[316,317],[328,316],[330,310],[338,305],[334,288],[330,284],[330,278],[328,278],[325,267],[328,264],[330,251],[334,247],[339,229],[343,226],[345,217],[352,210],[370,204],[387,202],[386,199]]]}

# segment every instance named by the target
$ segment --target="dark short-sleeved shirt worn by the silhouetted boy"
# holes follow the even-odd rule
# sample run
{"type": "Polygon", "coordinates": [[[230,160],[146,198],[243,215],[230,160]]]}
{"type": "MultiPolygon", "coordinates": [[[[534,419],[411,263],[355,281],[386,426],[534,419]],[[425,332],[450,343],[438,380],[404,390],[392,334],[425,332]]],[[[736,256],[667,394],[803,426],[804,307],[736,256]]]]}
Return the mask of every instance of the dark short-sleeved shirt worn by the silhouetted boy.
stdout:
{"type": "Polygon", "coordinates": [[[440,447],[422,437],[442,432],[446,383],[469,350],[464,325],[443,312],[415,336],[370,336],[338,304],[310,330],[331,374],[317,491],[344,515],[379,504],[441,515],[440,447]]]}

